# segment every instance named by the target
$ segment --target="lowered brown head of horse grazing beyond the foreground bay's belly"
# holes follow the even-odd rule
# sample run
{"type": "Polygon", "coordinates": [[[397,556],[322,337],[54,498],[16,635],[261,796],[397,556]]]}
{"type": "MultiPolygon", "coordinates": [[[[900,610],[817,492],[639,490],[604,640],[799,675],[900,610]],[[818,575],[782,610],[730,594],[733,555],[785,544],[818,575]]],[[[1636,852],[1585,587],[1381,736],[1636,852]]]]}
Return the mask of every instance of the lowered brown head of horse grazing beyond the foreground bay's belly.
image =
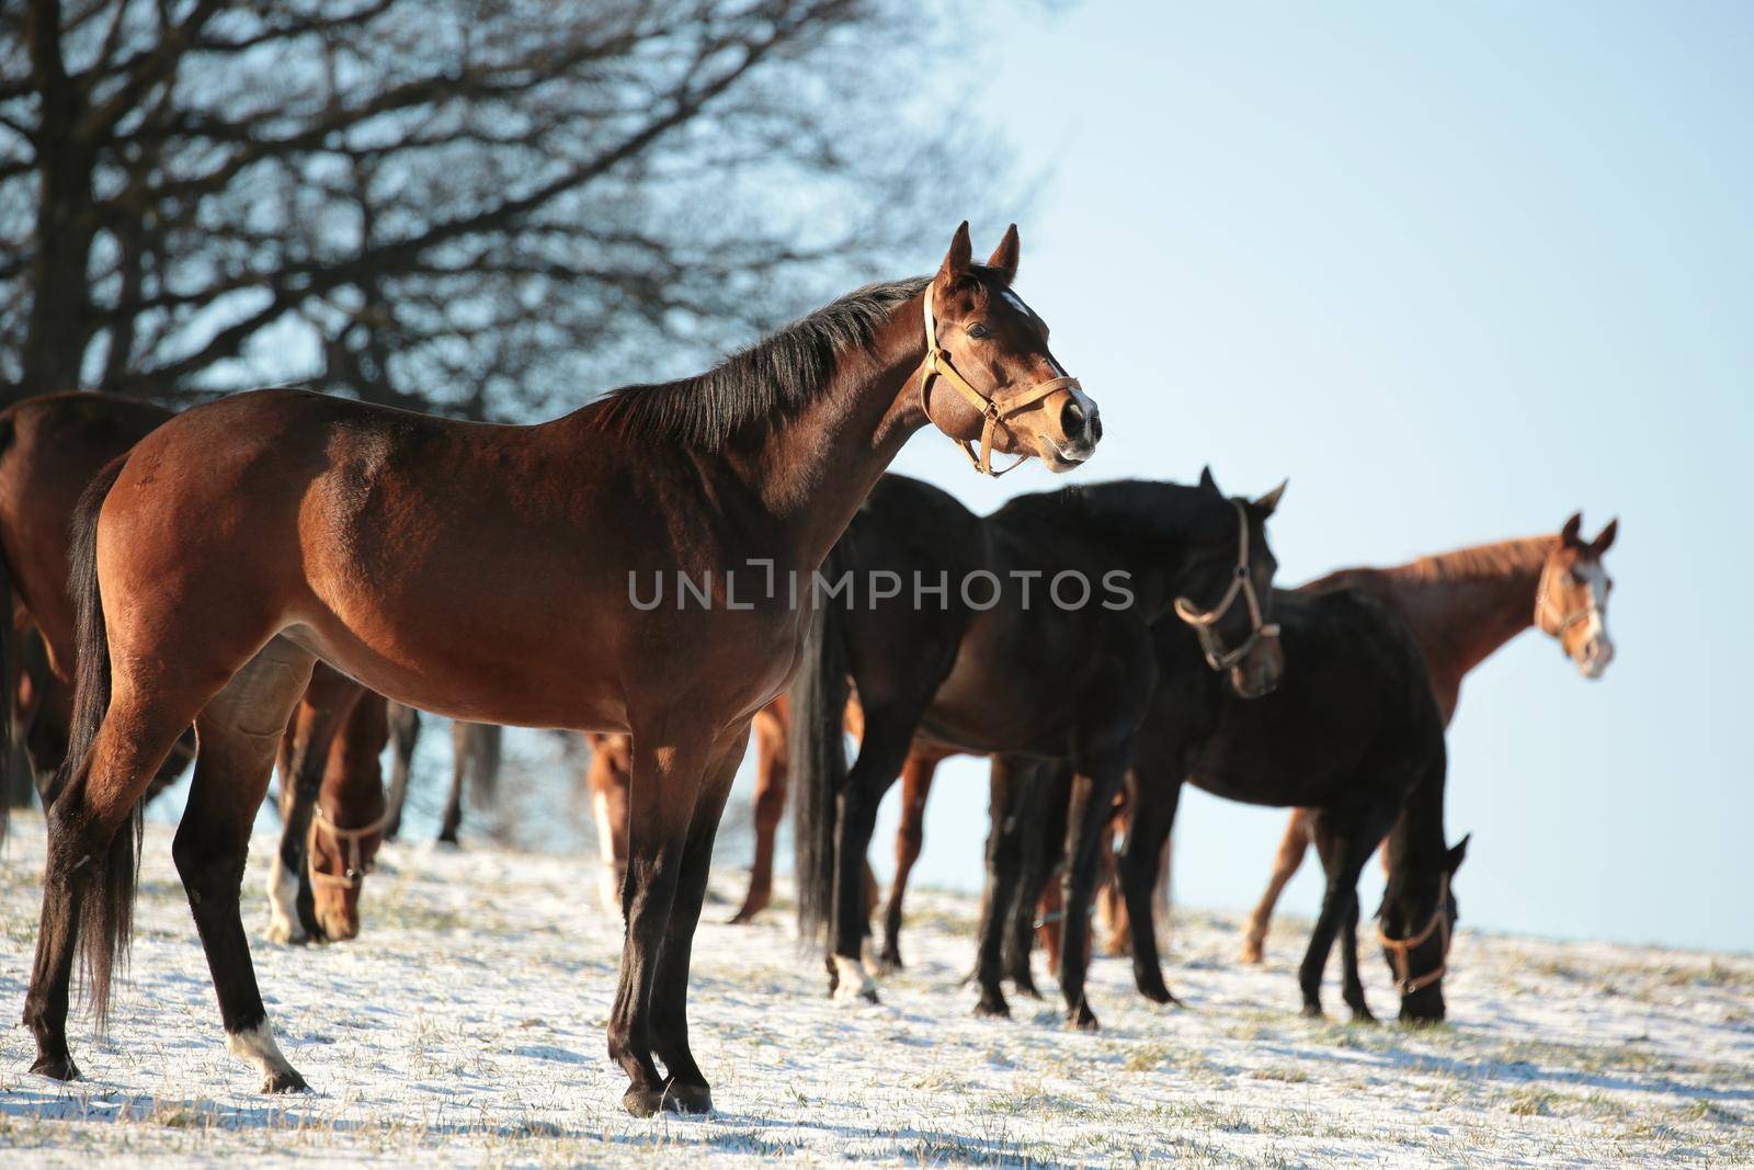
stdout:
{"type": "Polygon", "coordinates": [[[346,942],[360,933],[360,895],[389,823],[377,763],[386,738],[388,726],[384,737],[377,738],[377,747],[367,753],[342,744],[337,735],[310,812],[310,840],[305,849],[310,910],[317,930],[330,942],[346,942]]]}

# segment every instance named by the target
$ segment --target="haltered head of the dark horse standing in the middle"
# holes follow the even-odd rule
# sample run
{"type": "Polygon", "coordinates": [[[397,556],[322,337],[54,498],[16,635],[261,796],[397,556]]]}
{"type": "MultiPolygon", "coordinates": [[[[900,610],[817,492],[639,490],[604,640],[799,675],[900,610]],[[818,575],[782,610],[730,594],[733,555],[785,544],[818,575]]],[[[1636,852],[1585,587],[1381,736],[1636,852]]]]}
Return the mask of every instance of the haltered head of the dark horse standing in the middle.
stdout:
{"type": "Polygon", "coordinates": [[[1207,665],[1230,675],[1240,698],[1259,698],[1279,686],[1286,653],[1273,621],[1273,574],[1279,560],[1266,544],[1266,521],[1279,509],[1286,484],[1259,500],[1224,500],[1212,468],[1200,472],[1200,489],[1231,507],[1228,535],[1189,565],[1175,616],[1193,626],[1207,665]]]}

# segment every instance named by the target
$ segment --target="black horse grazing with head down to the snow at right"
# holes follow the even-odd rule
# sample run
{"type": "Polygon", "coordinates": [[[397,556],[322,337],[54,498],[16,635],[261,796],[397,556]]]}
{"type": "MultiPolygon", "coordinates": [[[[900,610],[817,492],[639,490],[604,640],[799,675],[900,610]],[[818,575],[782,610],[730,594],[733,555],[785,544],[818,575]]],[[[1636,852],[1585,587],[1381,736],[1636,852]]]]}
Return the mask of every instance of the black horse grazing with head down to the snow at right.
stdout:
{"type": "MultiPolygon", "coordinates": [[[[1401,1019],[1438,1021],[1456,924],[1451,879],[1468,842],[1449,849],[1444,837],[1444,716],[1424,658],[1400,617],[1351,589],[1277,593],[1273,616],[1294,668],[1254,702],[1238,702],[1198,670],[1201,647],[1180,623],[1152,628],[1158,688],[1133,737],[1133,824],[1121,854],[1133,977],[1147,998],[1170,998],[1151,896],[1182,784],[1191,782],[1226,800],[1316,810],[1328,891],[1298,970],[1307,1016],[1321,1014],[1323,968],[1344,933],[1342,995],[1356,1019],[1372,1019],[1358,977],[1358,877],[1387,833],[1379,940],[1401,993],[1401,1019]]],[[[1026,844],[998,847],[1028,856],[1026,844]]],[[[1033,893],[1010,905],[1033,909],[1033,893]]],[[[1009,954],[1012,970],[1017,954],[1009,954]]],[[[1026,977],[1026,951],[1021,965],[1026,977]]]]}

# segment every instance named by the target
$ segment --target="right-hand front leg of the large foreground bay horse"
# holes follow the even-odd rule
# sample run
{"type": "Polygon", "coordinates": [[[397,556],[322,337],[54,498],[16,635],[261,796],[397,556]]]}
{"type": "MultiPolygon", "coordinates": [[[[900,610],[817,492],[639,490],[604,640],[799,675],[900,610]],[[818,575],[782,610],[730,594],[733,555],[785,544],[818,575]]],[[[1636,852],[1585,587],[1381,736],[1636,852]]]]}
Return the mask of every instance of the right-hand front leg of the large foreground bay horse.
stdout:
{"type": "Polygon", "coordinates": [[[677,881],[675,903],[670,907],[670,923],[652,982],[652,1049],[668,1074],[663,1107],[684,1114],[712,1112],[712,1089],[688,1047],[688,968],[695,949],[695,928],[700,924],[700,907],[707,898],[712,838],[719,831],[719,817],[724,816],[724,800],[731,795],[731,781],[737,779],[745,740],[747,731],[733,737],[707,767],[695,816],[688,824],[682,875],[677,881]]]}

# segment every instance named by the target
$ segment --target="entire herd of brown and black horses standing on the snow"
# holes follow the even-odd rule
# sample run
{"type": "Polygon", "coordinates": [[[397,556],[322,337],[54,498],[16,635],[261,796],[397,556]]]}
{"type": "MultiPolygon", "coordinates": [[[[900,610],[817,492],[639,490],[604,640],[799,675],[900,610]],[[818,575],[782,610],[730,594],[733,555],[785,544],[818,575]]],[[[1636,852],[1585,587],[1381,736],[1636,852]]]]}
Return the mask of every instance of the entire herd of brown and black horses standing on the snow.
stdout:
{"type": "Polygon", "coordinates": [[[79,1075],[74,965],[102,1026],[140,809],[193,758],[174,858],[228,1047],[265,1091],[303,1088],[242,926],[251,824],[279,765],[270,935],[354,937],[400,821],[412,709],[472,728],[460,758],[489,775],[493,724],[591,733],[602,893],[626,923],[609,1052],[640,1116],[712,1107],[688,975],[751,728],[756,867],[735,921],[768,902],[789,791],[800,926],[826,935],[838,998],[877,998],[865,858],[879,800],[905,777],[877,952],[893,968],[933,768],[968,753],[993,761],[979,1012],[1007,1012],[1007,979],[1035,993],[1045,926],[1068,1021],[1094,1028],[1094,902],[1112,907],[1109,945],[1131,952],[1138,991],[1173,1000],[1152,903],[1191,782],[1294,809],[1245,958],[1314,842],[1328,888],[1303,1010],[1321,1010],[1338,940],[1342,996],[1368,1017],[1356,884],[1380,845],[1377,937],[1400,1014],[1440,1019],[1466,847],[1444,833],[1461,679],[1529,624],[1600,675],[1615,524],[1586,540],[1573,516],[1551,537],[1277,589],[1266,523],[1284,486],[1226,496],[1207,472],[973,516],[886,475],[928,424],[982,474],[1000,474],[995,453],[1052,470],[1093,456],[1102,417],[1012,291],[1017,254],[1010,228],[975,263],[963,225],[931,277],[863,288],[707,374],[538,426],[286,389],[177,416],[89,393],[0,414],[14,709],[0,735],[25,733],[49,837],[32,1070],[79,1075]]]}

